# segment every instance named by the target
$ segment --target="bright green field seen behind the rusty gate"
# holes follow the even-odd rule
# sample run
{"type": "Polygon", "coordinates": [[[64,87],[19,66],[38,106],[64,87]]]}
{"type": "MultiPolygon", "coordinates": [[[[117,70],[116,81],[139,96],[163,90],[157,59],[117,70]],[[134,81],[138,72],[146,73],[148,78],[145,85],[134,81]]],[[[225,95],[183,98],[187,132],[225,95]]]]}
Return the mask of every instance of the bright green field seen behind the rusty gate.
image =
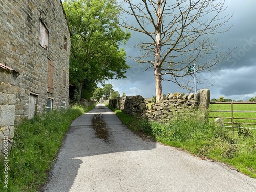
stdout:
{"type": "MultiPolygon", "coordinates": [[[[210,104],[210,111],[231,111],[231,104],[210,104]]],[[[233,122],[234,127],[246,127],[250,129],[256,129],[256,104],[233,104],[233,122]],[[254,112],[236,112],[236,111],[254,111],[254,112]],[[247,118],[247,119],[236,119],[247,118]],[[253,119],[254,118],[254,119],[253,119]],[[246,124],[245,124],[246,123],[246,124]],[[254,124],[254,125],[252,125],[254,124]]],[[[231,112],[209,112],[211,121],[215,120],[215,117],[228,117],[223,118],[224,126],[232,127],[231,112]]]]}

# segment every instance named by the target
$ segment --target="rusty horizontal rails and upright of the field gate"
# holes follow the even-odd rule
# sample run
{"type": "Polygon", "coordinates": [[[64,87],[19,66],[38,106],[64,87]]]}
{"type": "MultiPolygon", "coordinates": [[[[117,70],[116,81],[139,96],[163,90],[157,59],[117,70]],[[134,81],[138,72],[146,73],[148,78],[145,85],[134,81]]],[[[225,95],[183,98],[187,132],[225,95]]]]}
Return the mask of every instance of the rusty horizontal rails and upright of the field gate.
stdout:
{"type": "MultiPolygon", "coordinates": [[[[234,113],[236,112],[242,112],[242,113],[256,113],[256,111],[248,111],[248,110],[245,110],[245,111],[241,111],[241,110],[233,110],[233,105],[234,104],[256,104],[256,102],[211,102],[210,104],[230,104],[231,105],[231,110],[211,110],[210,112],[231,112],[231,117],[220,117],[220,116],[209,116],[209,118],[221,118],[221,119],[231,119],[231,122],[224,122],[225,124],[231,124],[232,126],[224,126],[223,124],[223,127],[229,127],[231,128],[232,127],[232,130],[234,131],[234,128],[240,128],[240,125],[256,125],[256,123],[247,123],[247,122],[241,122],[241,123],[238,123],[239,126],[235,126],[237,125],[236,122],[234,122],[234,120],[236,119],[245,119],[245,120],[255,120],[256,121],[256,118],[246,118],[246,117],[234,117],[234,113]]],[[[256,107],[256,106],[255,106],[256,107]]],[[[255,117],[256,117],[256,114],[255,114],[255,117]]],[[[245,127],[247,129],[256,129],[256,128],[252,128],[252,127],[245,127]]]]}

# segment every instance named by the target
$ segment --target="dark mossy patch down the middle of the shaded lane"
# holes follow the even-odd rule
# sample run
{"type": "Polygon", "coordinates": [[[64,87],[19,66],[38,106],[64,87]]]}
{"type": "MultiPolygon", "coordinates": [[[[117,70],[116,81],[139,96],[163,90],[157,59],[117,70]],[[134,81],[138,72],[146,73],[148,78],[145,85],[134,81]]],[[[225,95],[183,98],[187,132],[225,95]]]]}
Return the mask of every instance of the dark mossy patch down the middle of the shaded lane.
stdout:
{"type": "Polygon", "coordinates": [[[102,114],[95,114],[92,118],[92,126],[95,130],[96,137],[103,139],[105,142],[110,142],[109,128],[106,127],[106,123],[103,120],[102,114]]]}

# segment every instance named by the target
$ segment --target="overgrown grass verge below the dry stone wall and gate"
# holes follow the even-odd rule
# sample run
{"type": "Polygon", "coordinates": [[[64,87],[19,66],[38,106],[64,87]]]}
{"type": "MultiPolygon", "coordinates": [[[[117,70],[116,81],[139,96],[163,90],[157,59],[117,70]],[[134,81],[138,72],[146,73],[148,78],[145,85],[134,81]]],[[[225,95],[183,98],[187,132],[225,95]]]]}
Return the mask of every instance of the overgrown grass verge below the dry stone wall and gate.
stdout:
{"type": "Polygon", "coordinates": [[[121,110],[112,109],[131,130],[143,132],[156,141],[179,147],[201,158],[224,162],[240,172],[256,178],[256,133],[242,130],[240,134],[226,132],[216,124],[194,115],[178,115],[162,124],[131,117],[121,110]]]}

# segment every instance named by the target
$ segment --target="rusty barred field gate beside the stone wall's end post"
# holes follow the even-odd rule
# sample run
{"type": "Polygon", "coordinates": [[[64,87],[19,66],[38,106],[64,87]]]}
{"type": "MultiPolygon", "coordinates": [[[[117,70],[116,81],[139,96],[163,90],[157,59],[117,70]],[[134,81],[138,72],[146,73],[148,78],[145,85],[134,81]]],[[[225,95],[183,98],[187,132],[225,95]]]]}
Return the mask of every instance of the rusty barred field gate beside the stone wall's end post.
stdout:
{"type": "Polygon", "coordinates": [[[209,112],[218,112],[219,113],[226,113],[226,112],[231,112],[231,117],[222,117],[222,116],[211,116],[211,113],[209,113],[209,118],[219,118],[219,119],[230,119],[230,122],[224,122],[221,125],[222,127],[228,127],[228,128],[232,128],[232,130],[234,131],[234,128],[240,128],[241,126],[243,126],[243,128],[247,128],[247,129],[255,129],[256,130],[256,111],[254,110],[247,110],[247,111],[241,111],[241,110],[233,110],[233,105],[237,105],[237,104],[255,104],[255,110],[256,110],[256,102],[211,102],[210,104],[229,104],[230,105],[230,110],[211,110],[209,112]],[[234,117],[234,113],[237,112],[241,112],[241,113],[254,113],[252,115],[252,117],[234,117]],[[236,120],[243,120],[243,122],[236,122],[236,120]],[[245,120],[245,121],[244,121],[245,120]],[[249,121],[253,121],[253,122],[248,122],[249,121]],[[247,121],[247,122],[246,122],[247,121]],[[230,126],[231,124],[231,126],[230,126]],[[244,126],[248,126],[248,127],[244,127],[244,126]]]}

